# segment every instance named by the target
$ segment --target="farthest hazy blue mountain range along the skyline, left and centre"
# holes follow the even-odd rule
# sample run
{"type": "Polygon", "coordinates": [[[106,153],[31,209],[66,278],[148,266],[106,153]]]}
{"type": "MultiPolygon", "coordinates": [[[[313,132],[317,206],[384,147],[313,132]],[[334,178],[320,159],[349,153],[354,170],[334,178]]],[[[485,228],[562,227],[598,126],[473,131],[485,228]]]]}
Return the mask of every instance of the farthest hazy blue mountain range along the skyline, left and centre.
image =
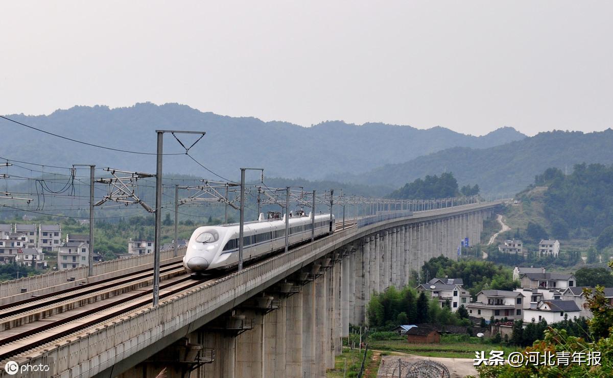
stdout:
{"type": "MultiPolygon", "coordinates": [[[[8,117],[48,132],[115,149],[155,152],[157,129],[202,130],[207,135],[189,150],[200,163],[229,179],[238,168],[265,168],[268,177],[323,179],[338,172],[356,174],[449,147],[487,148],[525,138],[504,127],[485,136],[463,135],[447,128],[419,130],[387,124],[353,125],[327,121],[311,127],[287,122],[262,122],[253,117],[203,113],[189,106],[139,103],[129,108],[75,106],[48,116],[8,117]]],[[[0,119],[2,154],[17,160],[69,166],[97,166],[152,172],[155,157],[97,149],[36,132],[0,119]]],[[[196,136],[177,135],[186,147],[196,136]]],[[[165,153],[185,150],[172,135],[164,136],[165,153]]],[[[164,171],[214,179],[215,176],[183,155],[164,157],[164,171]]],[[[405,179],[402,179],[406,182],[405,179]]],[[[369,183],[370,184],[370,183],[369,183]]]]}

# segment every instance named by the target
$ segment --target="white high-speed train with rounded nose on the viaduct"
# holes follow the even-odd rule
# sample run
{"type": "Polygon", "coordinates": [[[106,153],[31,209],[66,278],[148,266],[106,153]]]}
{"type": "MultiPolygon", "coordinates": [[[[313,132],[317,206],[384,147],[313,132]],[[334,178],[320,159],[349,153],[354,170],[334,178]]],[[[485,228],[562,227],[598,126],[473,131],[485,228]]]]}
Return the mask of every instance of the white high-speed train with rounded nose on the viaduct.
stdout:
{"type": "MultiPolygon", "coordinates": [[[[278,213],[277,213],[278,214],[278,213]]],[[[291,213],[290,213],[291,214],[291,213]]],[[[302,212],[289,218],[289,245],[311,238],[311,214],[302,212]]],[[[229,269],[238,265],[238,224],[199,227],[189,238],[183,258],[185,269],[192,273],[229,269]]],[[[334,232],[330,214],[315,215],[315,236],[334,232]]],[[[285,248],[285,217],[272,217],[243,224],[243,262],[285,248]]]]}

